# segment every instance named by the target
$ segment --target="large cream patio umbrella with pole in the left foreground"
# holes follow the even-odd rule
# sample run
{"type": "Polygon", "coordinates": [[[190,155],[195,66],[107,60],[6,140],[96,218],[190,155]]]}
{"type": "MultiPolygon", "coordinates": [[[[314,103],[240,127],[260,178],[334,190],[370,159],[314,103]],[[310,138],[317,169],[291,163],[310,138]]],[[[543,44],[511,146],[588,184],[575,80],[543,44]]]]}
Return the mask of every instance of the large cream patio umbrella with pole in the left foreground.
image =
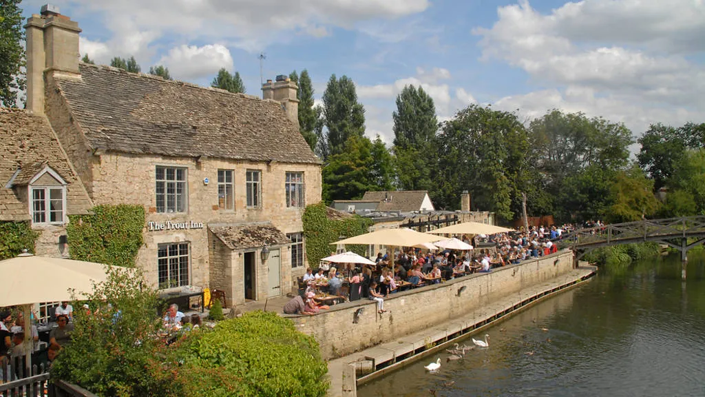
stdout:
{"type": "MultiPolygon", "coordinates": [[[[82,299],[93,290],[94,283],[107,279],[102,263],[73,261],[20,254],[0,261],[4,281],[0,288],[0,307],[23,305],[25,312],[25,343],[32,338],[30,306],[36,302],[82,299]],[[74,292],[72,295],[72,291],[74,292]]],[[[25,374],[30,374],[31,352],[25,356],[25,374]]]]}

